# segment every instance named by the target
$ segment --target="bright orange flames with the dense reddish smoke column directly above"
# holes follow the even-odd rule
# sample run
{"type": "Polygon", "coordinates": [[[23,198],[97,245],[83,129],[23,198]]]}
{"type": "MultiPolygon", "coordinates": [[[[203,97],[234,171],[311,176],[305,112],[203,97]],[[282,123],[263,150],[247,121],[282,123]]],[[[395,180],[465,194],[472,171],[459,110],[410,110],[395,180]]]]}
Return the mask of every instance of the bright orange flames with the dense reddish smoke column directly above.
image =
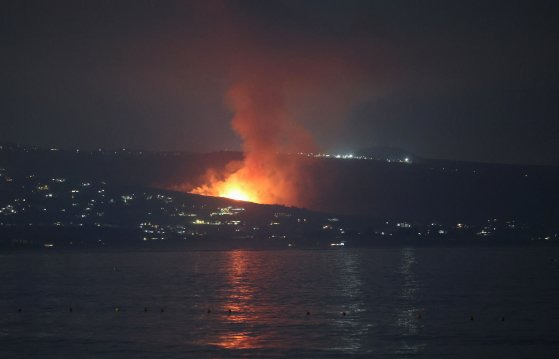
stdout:
{"type": "Polygon", "coordinates": [[[229,91],[235,111],[232,127],[243,140],[245,158],[230,163],[225,173],[208,173],[205,184],[192,193],[266,204],[303,204],[301,196],[308,192],[304,169],[299,161],[281,153],[310,151],[314,144],[289,116],[278,87],[251,77],[229,91]]]}

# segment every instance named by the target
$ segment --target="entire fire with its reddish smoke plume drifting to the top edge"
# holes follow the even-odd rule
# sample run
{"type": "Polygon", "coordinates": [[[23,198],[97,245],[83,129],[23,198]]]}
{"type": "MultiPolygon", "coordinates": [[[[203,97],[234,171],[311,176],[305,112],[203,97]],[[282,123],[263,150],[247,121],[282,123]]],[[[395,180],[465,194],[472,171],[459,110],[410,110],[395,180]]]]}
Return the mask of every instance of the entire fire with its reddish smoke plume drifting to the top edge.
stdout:
{"type": "Polygon", "coordinates": [[[230,86],[225,97],[244,159],[209,171],[191,192],[305,207],[316,187],[309,162],[286,154],[315,152],[317,146],[298,120],[315,118],[321,128],[341,123],[352,104],[369,96],[363,91],[369,79],[360,69],[370,66],[373,57],[366,50],[349,51],[352,40],[301,37],[266,27],[231,2],[204,4],[201,12],[211,14],[208,34],[215,35],[217,45],[209,47],[216,51],[211,57],[226,69],[230,86]]]}

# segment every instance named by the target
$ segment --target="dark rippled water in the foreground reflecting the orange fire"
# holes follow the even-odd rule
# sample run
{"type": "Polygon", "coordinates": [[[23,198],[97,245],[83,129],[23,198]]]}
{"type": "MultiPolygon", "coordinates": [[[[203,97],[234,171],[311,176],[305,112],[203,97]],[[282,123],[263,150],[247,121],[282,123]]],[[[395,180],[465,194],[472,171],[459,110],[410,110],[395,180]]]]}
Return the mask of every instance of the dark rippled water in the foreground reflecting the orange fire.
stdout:
{"type": "Polygon", "coordinates": [[[0,358],[559,357],[556,247],[12,252],[0,275],[0,358]]]}

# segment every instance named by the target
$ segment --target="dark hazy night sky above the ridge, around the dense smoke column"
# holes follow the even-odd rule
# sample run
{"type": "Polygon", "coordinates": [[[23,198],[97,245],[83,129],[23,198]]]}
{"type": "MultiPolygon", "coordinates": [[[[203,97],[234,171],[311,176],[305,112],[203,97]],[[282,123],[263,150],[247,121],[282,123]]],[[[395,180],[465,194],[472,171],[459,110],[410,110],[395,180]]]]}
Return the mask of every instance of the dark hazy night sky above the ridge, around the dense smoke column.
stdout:
{"type": "Polygon", "coordinates": [[[0,141],[238,149],[254,76],[325,151],[559,165],[554,3],[2,1],[0,141]]]}

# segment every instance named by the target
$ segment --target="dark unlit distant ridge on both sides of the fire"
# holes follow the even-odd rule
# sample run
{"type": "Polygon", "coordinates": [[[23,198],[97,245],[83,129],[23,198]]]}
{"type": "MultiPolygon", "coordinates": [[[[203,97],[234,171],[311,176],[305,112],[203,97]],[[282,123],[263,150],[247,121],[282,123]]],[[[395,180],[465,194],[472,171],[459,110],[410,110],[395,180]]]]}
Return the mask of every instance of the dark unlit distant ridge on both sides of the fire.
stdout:
{"type": "MultiPolygon", "coordinates": [[[[75,152],[4,146],[0,166],[19,175],[92,178],[116,184],[174,188],[201,183],[209,168],[239,160],[210,154],[75,152]]],[[[379,218],[466,221],[487,218],[559,222],[559,168],[422,160],[297,158],[314,185],[307,207],[379,218]]]]}

